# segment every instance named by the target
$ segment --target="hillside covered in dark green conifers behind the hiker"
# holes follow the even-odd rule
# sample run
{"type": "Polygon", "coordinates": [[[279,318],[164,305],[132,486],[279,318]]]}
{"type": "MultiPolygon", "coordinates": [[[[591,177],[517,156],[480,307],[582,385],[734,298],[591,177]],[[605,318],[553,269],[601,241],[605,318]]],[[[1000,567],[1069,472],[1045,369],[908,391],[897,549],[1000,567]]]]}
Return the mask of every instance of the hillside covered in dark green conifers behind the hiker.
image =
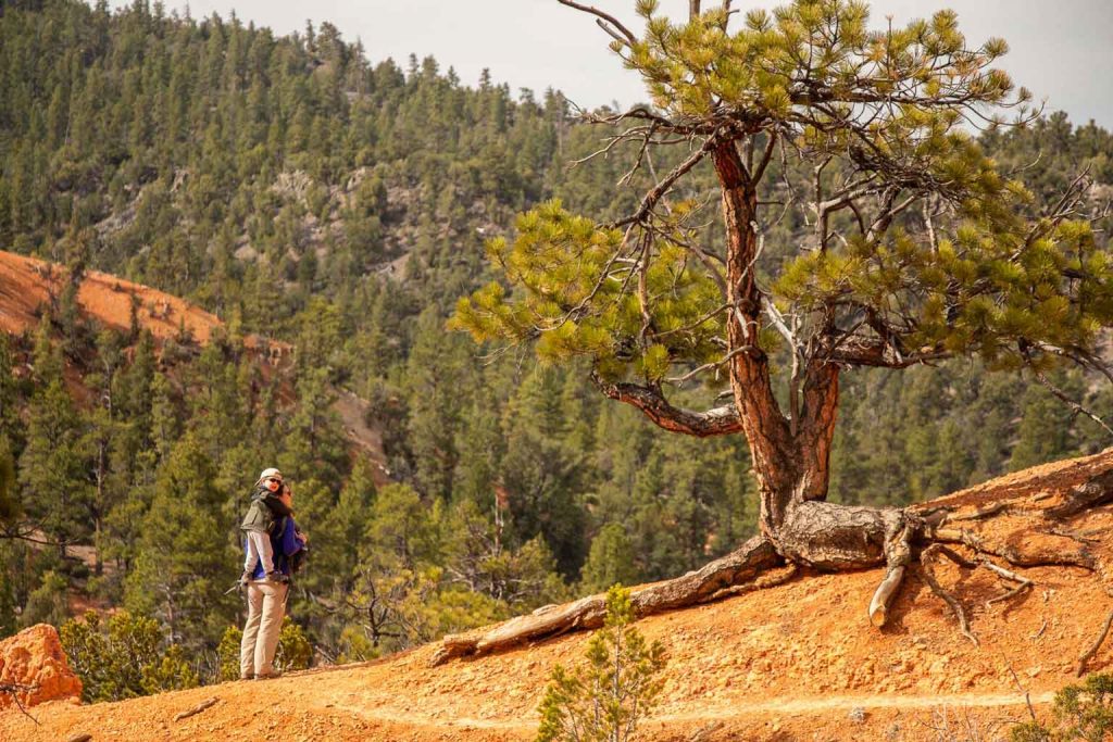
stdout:
{"type": "MultiPolygon", "coordinates": [[[[670,436],[577,368],[477,355],[445,329],[518,211],[559,197],[617,215],[652,168],[618,186],[638,155],[621,147],[572,167],[605,132],[559,92],[374,59],[327,23],[278,38],[141,0],[0,4],[0,249],[69,278],[36,332],[0,337],[0,635],[125,606],[215,676],[238,620],[236,525],[272,465],[312,535],[292,614],[328,660],[682,573],[754,528],[741,436],[670,436]],[[76,306],[88,269],[226,333],[99,327],[76,306]],[[293,360],[263,373],[247,333],[293,360]],[[329,412],[345,390],[370,403],[390,484],[329,412]],[[91,566],[65,545],[93,547],[91,566]]],[[[1113,138],[1093,123],[1053,115],[983,146],[1044,202],[1087,168],[1095,214],[1113,196],[1113,138]]],[[[770,245],[805,219],[786,209],[770,245]]],[[[1051,377],[1113,413],[1107,385],[1051,377]]],[[[840,419],[843,502],[868,482],[906,504],[1111,443],[1030,377],[966,362],[848,374],[840,419]]]]}

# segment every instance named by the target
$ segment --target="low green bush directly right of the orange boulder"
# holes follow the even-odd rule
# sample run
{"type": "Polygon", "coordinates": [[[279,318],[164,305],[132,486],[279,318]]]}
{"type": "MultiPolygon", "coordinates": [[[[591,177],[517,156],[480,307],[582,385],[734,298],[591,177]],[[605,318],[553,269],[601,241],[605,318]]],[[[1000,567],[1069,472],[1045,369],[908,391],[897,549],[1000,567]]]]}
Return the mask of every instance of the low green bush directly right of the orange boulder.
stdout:
{"type": "Polygon", "coordinates": [[[102,623],[88,611],[59,630],[81,700],[120,701],[199,685],[183,649],[167,643],[158,622],[120,611],[102,623]]]}

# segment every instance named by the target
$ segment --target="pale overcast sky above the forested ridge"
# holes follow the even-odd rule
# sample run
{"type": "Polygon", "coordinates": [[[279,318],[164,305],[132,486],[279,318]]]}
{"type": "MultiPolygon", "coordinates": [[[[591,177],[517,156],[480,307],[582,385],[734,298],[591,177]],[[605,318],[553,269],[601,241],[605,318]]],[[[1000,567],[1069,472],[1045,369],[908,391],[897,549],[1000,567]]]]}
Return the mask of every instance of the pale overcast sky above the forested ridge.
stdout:
{"type": "MultiPolygon", "coordinates": [[[[640,31],[633,0],[581,0],[640,31]]],[[[716,0],[705,0],[709,6],[716,0]]],[[[112,7],[127,0],[110,0],[112,7]]],[[[613,101],[644,100],[637,73],[624,70],[607,49],[593,17],[556,0],[164,0],[167,10],[194,18],[214,11],[268,26],[278,34],[301,31],[306,20],[329,21],[347,41],[363,40],[374,63],[387,57],[403,67],[411,53],[433,56],[442,71],[454,67],[474,86],[483,68],[495,82],[541,93],[562,90],[573,102],[592,108],[613,101]]],[[[736,0],[742,12],[771,9],[778,0],[736,0]]],[[[871,22],[895,24],[930,16],[942,8],[958,13],[969,42],[1003,37],[1011,52],[1001,61],[1017,85],[1047,100],[1047,110],[1065,110],[1075,123],[1095,119],[1113,128],[1113,0],[874,0],[871,22]]],[[[662,0],[674,18],[687,0],[662,0]]],[[[736,18],[736,23],[741,20],[736,18]]]]}

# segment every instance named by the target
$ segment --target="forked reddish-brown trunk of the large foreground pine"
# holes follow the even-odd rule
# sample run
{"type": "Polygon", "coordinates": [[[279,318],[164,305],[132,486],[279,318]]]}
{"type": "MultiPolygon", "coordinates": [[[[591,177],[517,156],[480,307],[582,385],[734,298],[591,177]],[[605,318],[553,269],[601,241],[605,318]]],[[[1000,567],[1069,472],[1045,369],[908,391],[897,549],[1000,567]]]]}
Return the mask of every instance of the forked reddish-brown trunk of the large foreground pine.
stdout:
{"type": "MultiPolygon", "coordinates": [[[[727,226],[727,301],[733,313],[727,323],[730,386],[758,479],[761,533],[784,558],[797,564],[829,570],[879,564],[887,542],[902,532],[903,517],[897,511],[824,502],[838,409],[838,366],[820,358],[807,360],[790,383],[790,413],[781,412],[758,337],[764,308],[756,271],[757,191],[732,141],[720,142],[712,158],[727,226]]],[[[792,353],[797,357],[796,348],[792,353]]]]}

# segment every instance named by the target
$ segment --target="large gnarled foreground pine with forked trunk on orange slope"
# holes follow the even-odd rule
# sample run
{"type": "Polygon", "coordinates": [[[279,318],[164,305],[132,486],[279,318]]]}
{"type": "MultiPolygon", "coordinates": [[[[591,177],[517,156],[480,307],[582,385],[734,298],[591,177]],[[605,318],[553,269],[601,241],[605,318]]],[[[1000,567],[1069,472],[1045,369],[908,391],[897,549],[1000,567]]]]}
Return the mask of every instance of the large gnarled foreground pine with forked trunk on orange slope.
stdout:
{"type": "MultiPolygon", "coordinates": [[[[560,200],[522,214],[515,235],[487,246],[503,280],[461,299],[455,326],[481,343],[534,344],[545,362],[585,358],[602,395],[666,431],[745,435],[759,534],[696,578],[646,591],[641,612],[698,602],[771,564],[885,565],[869,607],[883,625],[937,537],[914,511],[828,502],[840,376],[974,357],[1044,380],[1064,362],[1113,378],[1100,332],[1113,324],[1113,273],[1086,219],[1089,181],[1040,212],[961,126],[1009,108],[1034,116],[1031,93],[994,68],[1007,44],[968,44],[952,11],[879,32],[868,6],[849,0],[738,19],[692,2],[680,21],[639,0],[637,34],[564,4],[601,21],[653,102],[589,118],[615,127],[611,145],[631,146],[634,170],[647,149],[683,159],[618,219],[560,200]],[[713,172],[713,190],[701,172],[713,172]],[[702,210],[712,199],[718,217],[702,210]],[[786,233],[788,211],[808,229],[786,233]],[[700,382],[693,408],[684,392],[700,382]]],[[[544,631],[598,607],[584,602],[544,631]]],[[[441,659],[480,642],[446,645],[441,659]]]]}

